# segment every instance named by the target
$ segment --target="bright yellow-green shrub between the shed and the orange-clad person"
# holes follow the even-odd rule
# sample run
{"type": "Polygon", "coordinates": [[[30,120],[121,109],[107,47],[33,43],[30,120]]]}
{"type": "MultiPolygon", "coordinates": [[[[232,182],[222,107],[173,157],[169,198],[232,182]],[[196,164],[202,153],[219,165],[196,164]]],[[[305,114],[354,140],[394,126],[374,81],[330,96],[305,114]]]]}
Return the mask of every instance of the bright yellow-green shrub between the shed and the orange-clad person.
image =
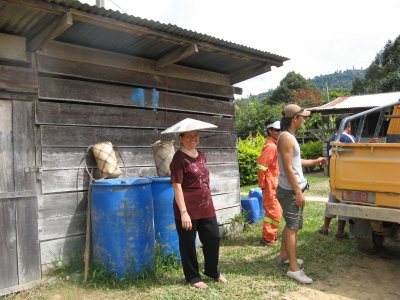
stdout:
{"type": "Polygon", "coordinates": [[[257,183],[256,160],[261,154],[265,139],[257,132],[256,136],[244,140],[239,138],[238,159],[240,172],[240,185],[257,183]]]}

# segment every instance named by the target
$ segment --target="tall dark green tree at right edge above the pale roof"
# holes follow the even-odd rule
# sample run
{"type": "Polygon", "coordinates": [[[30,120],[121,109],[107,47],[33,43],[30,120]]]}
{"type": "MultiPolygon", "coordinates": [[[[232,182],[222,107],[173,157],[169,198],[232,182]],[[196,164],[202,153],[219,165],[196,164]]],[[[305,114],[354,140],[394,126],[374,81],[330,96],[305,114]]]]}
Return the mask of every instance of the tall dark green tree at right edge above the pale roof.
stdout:
{"type": "Polygon", "coordinates": [[[400,91],[400,35],[388,41],[367,68],[365,80],[353,81],[352,94],[400,91]]]}

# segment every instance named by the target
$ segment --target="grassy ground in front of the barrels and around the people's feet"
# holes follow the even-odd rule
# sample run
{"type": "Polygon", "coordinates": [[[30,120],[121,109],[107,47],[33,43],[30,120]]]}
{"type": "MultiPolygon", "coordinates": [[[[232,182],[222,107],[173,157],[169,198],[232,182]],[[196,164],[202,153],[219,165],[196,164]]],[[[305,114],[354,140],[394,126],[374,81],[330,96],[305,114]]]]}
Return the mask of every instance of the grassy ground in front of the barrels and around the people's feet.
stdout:
{"type": "MultiPolygon", "coordinates": [[[[339,276],[352,264],[352,256],[361,256],[353,240],[336,240],[336,221],[332,233],[316,233],[323,220],[324,204],[307,203],[304,228],[299,232],[298,256],[316,281],[339,276]]],[[[274,247],[259,245],[262,223],[245,226],[245,231],[223,239],[220,269],[227,284],[206,279],[209,289],[197,290],[184,282],[180,265],[173,259],[156,258],[155,271],[140,278],[115,279],[103,269],[92,266],[89,281],[82,284],[82,262],[75,267],[59,266],[53,276],[56,284],[41,285],[11,299],[281,299],[300,285],[285,276],[286,266],[277,262],[280,241],[274,247]],[[76,268],[78,267],[78,268],[76,268]]],[[[281,228],[282,230],[282,228],[281,228]]],[[[281,233],[280,230],[280,233],[281,233]]],[[[200,265],[202,254],[199,251],[200,265]]]]}

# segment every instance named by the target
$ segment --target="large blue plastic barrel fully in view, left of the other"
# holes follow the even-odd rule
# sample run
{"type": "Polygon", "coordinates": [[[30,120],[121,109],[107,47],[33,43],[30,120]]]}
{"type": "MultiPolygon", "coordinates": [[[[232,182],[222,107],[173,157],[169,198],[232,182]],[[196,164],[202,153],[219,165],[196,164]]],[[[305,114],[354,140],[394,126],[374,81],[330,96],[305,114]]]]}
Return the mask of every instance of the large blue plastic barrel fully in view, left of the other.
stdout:
{"type": "Polygon", "coordinates": [[[154,217],[150,180],[102,179],[92,184],[94,260],[116,277],[154,267],[154,217]]]}

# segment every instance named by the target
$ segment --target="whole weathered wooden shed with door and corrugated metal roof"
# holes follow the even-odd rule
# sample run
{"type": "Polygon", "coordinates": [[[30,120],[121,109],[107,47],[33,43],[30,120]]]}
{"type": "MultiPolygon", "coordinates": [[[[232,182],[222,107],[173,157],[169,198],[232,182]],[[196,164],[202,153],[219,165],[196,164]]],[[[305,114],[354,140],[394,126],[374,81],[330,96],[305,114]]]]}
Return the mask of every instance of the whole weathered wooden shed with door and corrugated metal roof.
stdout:
{"type": "Polygon", "coordinates": [[[126,176],[156,176],[163,129],[214,123],[200,148],[218,222],[240,213],[233,84],[285,60],[78,1],[0,0],[0,295],[82,255],[91,144],[112,141],[126,176]]]}

